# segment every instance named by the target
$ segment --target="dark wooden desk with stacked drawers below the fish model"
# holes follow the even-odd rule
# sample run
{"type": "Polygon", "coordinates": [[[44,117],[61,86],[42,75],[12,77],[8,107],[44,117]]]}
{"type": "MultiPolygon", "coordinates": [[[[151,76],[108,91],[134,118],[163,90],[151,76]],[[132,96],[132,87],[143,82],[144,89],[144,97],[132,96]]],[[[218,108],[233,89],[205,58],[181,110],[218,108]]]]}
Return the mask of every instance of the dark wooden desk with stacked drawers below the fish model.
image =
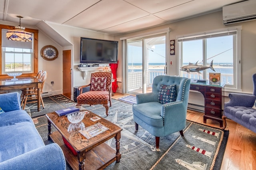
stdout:
{"type": "Polygon", "coordinates": [[[191,83],[190,90],[199,91],[204,96],[204,123],[206,119],[212,119],[220,123],[222,120],[222,88],[225,84],[209,85],[203,83],[191,83]]]}

